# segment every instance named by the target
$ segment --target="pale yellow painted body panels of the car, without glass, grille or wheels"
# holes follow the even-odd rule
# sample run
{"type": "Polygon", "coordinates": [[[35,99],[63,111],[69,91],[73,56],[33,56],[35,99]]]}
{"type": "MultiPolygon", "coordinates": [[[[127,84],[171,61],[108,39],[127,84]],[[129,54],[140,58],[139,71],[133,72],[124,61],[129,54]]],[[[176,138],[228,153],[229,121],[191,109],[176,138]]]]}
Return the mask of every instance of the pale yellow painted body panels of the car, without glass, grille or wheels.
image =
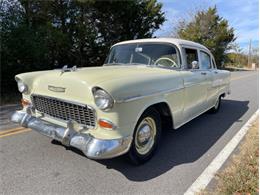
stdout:
{"type": "MultiPolygon", "coordinates": [[[[143,39],[129,42],[160,42],[174,44],[182,59],[179,69],[169,69],[147,65],[122,65],[77,68],[76,71],[61,72],[49,70],[23,73],[16,76],[28,85],[29,92],[23,98],[31,101],[32,94],[55,97],[62,100],[91,106],[96,112],[96,121],[106,119],[115,128],[81,129],[81,133],[91,134],[98,139],[120,139],[133,136],[138,119],[144,111],[155,104],[168,106],[172,117],[172,127],[177,129],[196,116],[214,107],[221,95],[230,92],[230,73],[217,70],[185,69],[183,47],[195,48],[212,54],[205,47],[178,39],[143,39]],[[201,79],[201,72],[208,71],[201,79]],[[214,74],[214,71],[217,74],[214,74]],[[48,86],[65,88],[65,92],[54,92],[48,86]],[[94,101],[93,87],[100,87],[114,99],[114,106],[108,111],[100,110],[94,101]]],[[[203,76],[203,75],[202,75],[203,76]]],[[[66,127],[66,121],[37,113],[36,116],[52,124],[66,127]]]]}

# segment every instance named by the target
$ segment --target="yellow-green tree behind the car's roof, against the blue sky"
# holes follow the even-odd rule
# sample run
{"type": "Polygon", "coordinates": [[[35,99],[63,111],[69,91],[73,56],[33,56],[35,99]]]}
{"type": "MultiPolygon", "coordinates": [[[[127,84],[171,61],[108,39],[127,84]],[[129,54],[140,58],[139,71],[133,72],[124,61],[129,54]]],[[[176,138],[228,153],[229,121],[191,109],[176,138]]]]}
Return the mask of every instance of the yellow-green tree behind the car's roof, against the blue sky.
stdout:
{"type": "Polygon", "coordinates": [[[217,66],[221,67],[229,44],[236,38],[228,21],[217,14],[217,8],[209,7],[205,11],[198,11],[190,22],[180,22],[177,37],[205,45],[213,53],[217,66]]]}

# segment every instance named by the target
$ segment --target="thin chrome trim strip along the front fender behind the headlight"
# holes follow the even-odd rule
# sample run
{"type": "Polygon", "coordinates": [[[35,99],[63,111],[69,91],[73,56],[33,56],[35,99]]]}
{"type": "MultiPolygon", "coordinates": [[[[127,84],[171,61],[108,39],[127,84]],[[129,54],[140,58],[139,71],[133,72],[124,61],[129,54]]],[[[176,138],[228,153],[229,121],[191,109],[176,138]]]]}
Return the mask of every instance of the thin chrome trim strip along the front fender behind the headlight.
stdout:
{"type": "Polygon", "coordinates": [[[153,92],[153,93],[146,94],[146,95],[136,95],[136,96],[132,96],[132,97],[126,97],[124,99],[115,100],[115,103],[118,103],[118,104],[127,103],[127,102],[131,102],[131,101],[139,100],[142,98],[146,98],[146,97],[153,97],[153,96],[162,95],[162,94],[169,94],[174,91],[179,91],[182,89],[184,89],[184,87],[180,87],[180,88],[176,88],[176,89],[161,90],[161,91],[153,92]]]}

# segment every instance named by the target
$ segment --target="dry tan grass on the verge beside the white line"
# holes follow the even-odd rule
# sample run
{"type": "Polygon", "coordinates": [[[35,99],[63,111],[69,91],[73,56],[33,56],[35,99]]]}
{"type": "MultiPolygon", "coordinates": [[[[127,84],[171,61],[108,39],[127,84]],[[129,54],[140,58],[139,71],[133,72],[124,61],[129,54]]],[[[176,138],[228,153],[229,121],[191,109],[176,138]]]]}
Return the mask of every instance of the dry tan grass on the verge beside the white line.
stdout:
{"type": "Polygon", "coordinates": [[[227,167],[216,175],[215,189],[199,194],[235,194],[253,195],[259,193],[259,123],[258,120],[242,141],[238,154],[233,155],[227,167]]]}

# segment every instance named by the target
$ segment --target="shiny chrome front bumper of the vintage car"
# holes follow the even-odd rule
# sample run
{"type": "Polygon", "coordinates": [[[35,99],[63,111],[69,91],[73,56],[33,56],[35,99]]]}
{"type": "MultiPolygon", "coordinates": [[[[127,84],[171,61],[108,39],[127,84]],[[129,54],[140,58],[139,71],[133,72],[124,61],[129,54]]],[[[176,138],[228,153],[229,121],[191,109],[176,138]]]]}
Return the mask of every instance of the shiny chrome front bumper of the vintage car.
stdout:
{"type": "Polygon", "coordinates": [[[31,128],[39,133],[60,141],[62,144],[81,150],[91,159],[108,159],[126,153],[131,145],[132,137],[102,140],[90,134],[74,130],[73,122],[69,121],[67,128],[36,118],[25,111],[16,111],[11,120],[23,127],[31,128]]]}

